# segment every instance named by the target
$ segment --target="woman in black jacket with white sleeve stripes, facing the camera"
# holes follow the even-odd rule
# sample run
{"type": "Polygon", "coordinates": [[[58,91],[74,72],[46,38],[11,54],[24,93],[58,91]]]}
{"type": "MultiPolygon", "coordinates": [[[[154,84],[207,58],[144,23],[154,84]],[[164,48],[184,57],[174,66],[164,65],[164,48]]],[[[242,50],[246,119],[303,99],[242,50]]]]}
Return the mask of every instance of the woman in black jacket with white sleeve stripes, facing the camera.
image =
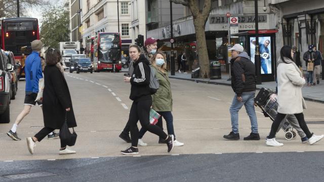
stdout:
{"type": "Polygon", "coordinates": [[[173,149],[174,136],[168,135],[160,127],[151,125],[149,122],[150,108],[152,105],[152,97],[150,93],[150,72],[149,61],[140,53],[140,48],[137,45],[131,45],[129,49],[131,59],[134,61],[134,72],[131,77],[124,76],[125,82],[131,82],[130,99],[133,101],[129,123],[132,138],[132,146],[125,151],[120,151],[122,154],[138,154],[138,135],[137,127],[138,120],[142,127],[148,131],[165,139],[168,145],[168,152],[173,149]]]}

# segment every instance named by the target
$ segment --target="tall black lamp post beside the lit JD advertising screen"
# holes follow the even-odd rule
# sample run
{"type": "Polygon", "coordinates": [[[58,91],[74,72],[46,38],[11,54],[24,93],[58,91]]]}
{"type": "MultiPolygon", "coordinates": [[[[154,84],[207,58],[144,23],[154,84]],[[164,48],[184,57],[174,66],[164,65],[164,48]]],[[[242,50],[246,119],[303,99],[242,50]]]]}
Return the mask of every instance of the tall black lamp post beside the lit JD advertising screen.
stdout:
{"type": "Polygon", "coordinates": [[[256,66],[256,84],[261,84],[261,63],[259,51],[259,16],[258,16],[258,0],[254,0],[255,9],[255,56],[254,63],[256,66]]]}

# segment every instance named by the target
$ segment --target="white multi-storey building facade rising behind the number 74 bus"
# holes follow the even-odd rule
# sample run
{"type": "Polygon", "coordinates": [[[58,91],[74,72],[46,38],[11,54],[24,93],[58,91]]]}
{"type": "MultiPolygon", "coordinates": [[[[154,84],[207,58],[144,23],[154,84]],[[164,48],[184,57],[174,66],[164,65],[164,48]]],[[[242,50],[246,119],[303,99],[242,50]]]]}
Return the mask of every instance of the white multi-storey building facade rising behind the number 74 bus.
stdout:
{"type": "Polygon", "coordinates": [[[117,4],[117,0],[84,0],[83,7],[84,47],[86,48],[86,43],[98,32],[116,33],[119,31],[121,49],[128,54],[129,45],[132,43],[130,1],[119,0],[117,4]]]}

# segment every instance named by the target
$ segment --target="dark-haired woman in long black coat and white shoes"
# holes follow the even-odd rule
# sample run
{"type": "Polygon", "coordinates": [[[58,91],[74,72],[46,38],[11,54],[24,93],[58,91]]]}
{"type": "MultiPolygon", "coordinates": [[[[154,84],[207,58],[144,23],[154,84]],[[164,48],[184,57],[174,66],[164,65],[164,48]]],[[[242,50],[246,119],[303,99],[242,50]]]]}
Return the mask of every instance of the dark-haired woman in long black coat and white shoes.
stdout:
{"type": "MultiPolygon", "coordinates": [[[[47,51],[47,66],[44,69],[43,92],[43,116],[45,127],[33,137],[27,138],[27,147],[31,154],[33,154],[35,142],[41,142],[45,136],[53,130],[61,129],[65,122],[65,117],[68,127],[76,127],[71,96],[64,78],[64,70],[61,69],[61,65],[57,64],[60,60],[61,55],[58,50],[49,49],[47,51]]],[[[61,140],[59,154],[75,154],[75,151],[68,149],[66,144],[61,140]]]]}

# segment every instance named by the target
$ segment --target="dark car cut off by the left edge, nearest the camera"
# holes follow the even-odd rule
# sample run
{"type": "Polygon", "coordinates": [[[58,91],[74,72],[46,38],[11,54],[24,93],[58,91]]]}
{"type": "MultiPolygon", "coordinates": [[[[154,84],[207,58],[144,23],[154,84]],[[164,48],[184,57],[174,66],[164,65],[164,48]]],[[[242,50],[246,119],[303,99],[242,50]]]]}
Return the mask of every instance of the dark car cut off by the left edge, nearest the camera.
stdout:
{"type": "Polygon", "coordinates": [[[13,66],[8,63],[5,51],[0,50],[0,123],[10,122],[11,72],[13,66]]]}

